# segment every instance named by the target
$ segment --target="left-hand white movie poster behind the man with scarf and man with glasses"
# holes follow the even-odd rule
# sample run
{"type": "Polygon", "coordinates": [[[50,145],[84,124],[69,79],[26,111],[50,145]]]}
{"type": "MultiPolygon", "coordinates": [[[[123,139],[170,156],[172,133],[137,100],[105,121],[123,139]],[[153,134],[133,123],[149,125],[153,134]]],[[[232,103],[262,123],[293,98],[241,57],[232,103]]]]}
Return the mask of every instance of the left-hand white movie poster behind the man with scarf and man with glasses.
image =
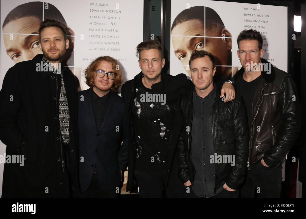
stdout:
{"type": "Polygon", "coordinates": [[[65,27],[69,48],[63,62],[79,79],[80,90],[88,89],[84,70],[103,55],[114,57],[121,65],[124,81],[130,80],[139,73],[134,54],[143,39],[143,19],[140,17],[143,17],[143,1],[140,0],[132,3],[123,0],[106,3],[2,0],[0,86],[10,67],[42,53],[38,29],[40,22],[46,19],[61,21],[65,27]]]}

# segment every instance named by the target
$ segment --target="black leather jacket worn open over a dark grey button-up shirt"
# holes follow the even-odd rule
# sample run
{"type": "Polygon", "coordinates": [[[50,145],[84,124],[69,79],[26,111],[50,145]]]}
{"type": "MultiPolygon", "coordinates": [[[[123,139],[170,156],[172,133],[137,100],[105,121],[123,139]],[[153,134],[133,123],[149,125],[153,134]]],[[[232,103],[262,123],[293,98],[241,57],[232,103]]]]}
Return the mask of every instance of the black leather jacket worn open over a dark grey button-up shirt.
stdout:
{"type": "MultiPolygon", "coordinates": [[[[216,164],[215,189],[226,183],[232,189],[238,189],[244,180],[248,159],[248,120],[241,97],[236,95],[233,101],[224,103],[217,88],[215,102],[211,109],[211,121],[214,150],[218,155],[235,155],[235,165],[216,164]]],[[[193,114],[192,95],[194,85],[181,100],[183,126],[177,145],[179,159],[179,177],[185,183],[193,185],[195,169],[191,162],[192,141],[191,124],[193,114]],[[189,127],[188,127],[189,126],[189,127]]]]}

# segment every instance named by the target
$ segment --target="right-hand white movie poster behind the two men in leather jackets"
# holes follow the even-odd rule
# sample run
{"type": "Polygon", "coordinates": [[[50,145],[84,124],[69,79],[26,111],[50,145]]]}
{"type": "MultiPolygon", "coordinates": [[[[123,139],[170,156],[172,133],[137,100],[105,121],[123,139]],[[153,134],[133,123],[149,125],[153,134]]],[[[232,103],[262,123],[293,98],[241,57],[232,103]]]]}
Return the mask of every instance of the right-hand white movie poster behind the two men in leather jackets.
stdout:
{"type": "Polygon", "coordinates": [[[170,74],[190,78],[193,50],[216,58],[214,81],[224,81],[241,68],[237,36],[255,29],[263,37],[263,58],[287,71],[287,7],[219,1],[171,1],[170,74]],[[282,46],[280,46],[282,45],[282,46]]]}

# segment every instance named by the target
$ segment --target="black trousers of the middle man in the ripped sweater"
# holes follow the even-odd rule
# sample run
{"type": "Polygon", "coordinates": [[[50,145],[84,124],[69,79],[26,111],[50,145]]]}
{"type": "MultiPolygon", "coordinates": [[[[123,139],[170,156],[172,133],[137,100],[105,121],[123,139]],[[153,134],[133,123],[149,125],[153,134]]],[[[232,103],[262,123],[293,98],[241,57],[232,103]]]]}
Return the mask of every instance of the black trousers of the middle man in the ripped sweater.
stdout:
{"type": "Polygon", "coordinates": [[[134,171],[134,177],[139,186],[141,198],[162,198],[162,190],[166,190],[168,198],[187,197],[184,184],[181,180],[169,182],[166,186],[167,172],[134,171]]]}

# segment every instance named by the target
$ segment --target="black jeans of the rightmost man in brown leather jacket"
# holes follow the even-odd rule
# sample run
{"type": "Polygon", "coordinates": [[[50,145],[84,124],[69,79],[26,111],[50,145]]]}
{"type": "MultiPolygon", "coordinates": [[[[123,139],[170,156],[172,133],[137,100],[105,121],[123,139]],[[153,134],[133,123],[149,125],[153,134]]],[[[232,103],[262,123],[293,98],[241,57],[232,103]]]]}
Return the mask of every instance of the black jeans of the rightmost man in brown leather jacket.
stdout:
{"type": "Polygon", "coordinates": [[[261,159],[250,166],[245,183],[240,190],[241,198],[280,198],[282,189],[282,165],[277,168],[265,167],[261,159]]]}

